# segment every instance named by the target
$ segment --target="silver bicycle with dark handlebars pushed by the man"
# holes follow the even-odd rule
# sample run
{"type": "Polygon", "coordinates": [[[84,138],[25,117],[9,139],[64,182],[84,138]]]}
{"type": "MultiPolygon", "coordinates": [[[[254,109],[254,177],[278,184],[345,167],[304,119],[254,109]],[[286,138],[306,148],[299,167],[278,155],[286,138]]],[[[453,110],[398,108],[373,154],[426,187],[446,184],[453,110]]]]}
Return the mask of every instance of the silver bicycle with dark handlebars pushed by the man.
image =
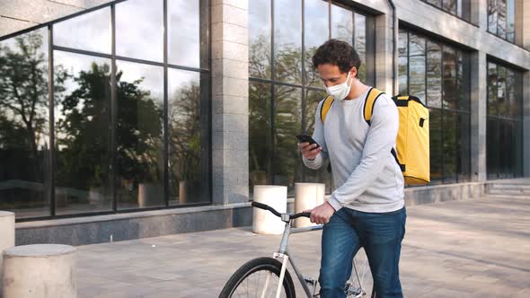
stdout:
{"type": "MultiPolygon", "coordinates": [[[[272,258],[262,257],[251,259],[237,269],[234,272],[234,275],[232,275],[226,282],[221,294],[219,294],[219,298],[240,296],[295,298],[295,284],[287,270],[287,262],[290,263],[291,267],[295,270],[296,277],[302,285],[307,297],[318,297],[319,294],[316,293],[318,281],[311,277],[302,276],[302,272],[296,267],[293,256],[287,251],[287,244],[291,234],[319,231],[322,230],[322,225],[293,228],[292,221],[294,219],[298,217],[309,217],[311,214],[280,214],[271,206],[258,202],[252,202],[252,206],[263,210],[269,210],[285,223],[279,249],[277,252],[274,252],[272,258]]],[[[359,250],[359,252],[360,251],[361,250],[359,250]]],[[[371,297],[374,298],[375,293],[373,289],[372,291],[367,291],[368,286],[373,285],[372,274],[370,272],[370,267],[368,266],[367,257],[364,251],[360,254],[359,252],[353,259],[352,274],[344,287],[344,292],[349,298],[360,298],[370,293],[371,297]]]]}

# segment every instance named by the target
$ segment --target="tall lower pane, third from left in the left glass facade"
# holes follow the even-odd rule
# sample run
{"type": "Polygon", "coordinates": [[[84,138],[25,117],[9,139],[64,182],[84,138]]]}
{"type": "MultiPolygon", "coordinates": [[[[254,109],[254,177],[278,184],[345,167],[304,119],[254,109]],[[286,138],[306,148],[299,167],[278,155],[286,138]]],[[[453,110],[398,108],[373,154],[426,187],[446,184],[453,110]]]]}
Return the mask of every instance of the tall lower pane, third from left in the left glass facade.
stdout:
{"type": "Polygon", "coordinates": [[[117,67],[118,207],[163,206],[163,68],[117,67]]]}

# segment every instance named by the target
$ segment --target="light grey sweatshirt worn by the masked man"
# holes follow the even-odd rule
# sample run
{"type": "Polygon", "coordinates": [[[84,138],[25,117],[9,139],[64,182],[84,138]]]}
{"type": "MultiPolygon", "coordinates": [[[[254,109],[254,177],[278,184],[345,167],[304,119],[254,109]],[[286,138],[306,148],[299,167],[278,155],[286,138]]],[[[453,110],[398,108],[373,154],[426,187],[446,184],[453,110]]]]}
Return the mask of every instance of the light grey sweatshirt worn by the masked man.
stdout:
{"type": "Polygon", "coordinates": [[[367,92],[352,101],[334,101],[325,123],[315,115],[314,140],[322,152],[305,166],[319,169],[330,158],[336,189],[328,202],[335,210],[348,207],[361,212],[384,213],[404,206],[403,175],[391,149],[399,127],[392,99],[382,94],[375,101],[371,124],[363,116],[367,92]]]}

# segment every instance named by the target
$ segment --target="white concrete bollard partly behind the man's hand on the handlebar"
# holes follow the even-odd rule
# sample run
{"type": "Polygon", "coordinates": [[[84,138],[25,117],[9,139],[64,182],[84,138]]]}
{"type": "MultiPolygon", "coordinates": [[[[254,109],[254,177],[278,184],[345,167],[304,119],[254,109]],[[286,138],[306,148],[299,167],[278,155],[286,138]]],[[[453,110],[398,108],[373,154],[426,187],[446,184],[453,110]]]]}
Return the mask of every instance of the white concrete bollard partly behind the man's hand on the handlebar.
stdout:
{"type": "MultiPolygon", "coordinates": [[[[323,183],[295,183],[295,213],[313,209],[324,202],[326,185],[323,183]]],[[[309,218],[299,217],[295,219],[295,227],[301,228],[311,226],[314,223],[309,218]]]]}

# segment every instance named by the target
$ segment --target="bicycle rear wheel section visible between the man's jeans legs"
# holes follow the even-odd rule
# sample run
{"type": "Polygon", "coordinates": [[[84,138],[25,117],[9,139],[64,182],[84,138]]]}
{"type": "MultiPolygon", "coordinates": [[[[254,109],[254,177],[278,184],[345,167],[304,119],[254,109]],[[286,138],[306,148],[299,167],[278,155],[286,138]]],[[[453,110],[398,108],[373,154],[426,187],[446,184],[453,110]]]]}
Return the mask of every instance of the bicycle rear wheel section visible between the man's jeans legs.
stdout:
{"type": "Polygon", "coordinates": [[[351,277],[346,285],[347,296],[349,298],[371,297],[374,280],[365,249],[361,248],[358,250],[357,255],[353,259],[353,264],[351,277]]]}

